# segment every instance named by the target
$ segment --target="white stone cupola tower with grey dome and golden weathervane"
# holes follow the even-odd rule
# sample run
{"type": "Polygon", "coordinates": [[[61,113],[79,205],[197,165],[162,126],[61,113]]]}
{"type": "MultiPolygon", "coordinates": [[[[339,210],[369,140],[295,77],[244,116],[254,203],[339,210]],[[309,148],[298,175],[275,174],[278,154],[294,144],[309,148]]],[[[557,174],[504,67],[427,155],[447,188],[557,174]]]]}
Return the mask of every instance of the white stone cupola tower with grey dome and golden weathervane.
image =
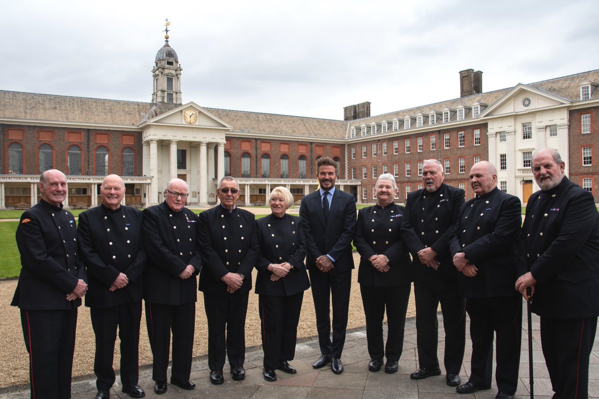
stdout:
{"type": "Polygon", "coordinates": [[[162,104],[182,104],[181,102],[181,65],[179,57],[168,44],[168,26],[165,24],[164,46],[156,53],[152,69],[153,90],[152,102],[162,104]]]}

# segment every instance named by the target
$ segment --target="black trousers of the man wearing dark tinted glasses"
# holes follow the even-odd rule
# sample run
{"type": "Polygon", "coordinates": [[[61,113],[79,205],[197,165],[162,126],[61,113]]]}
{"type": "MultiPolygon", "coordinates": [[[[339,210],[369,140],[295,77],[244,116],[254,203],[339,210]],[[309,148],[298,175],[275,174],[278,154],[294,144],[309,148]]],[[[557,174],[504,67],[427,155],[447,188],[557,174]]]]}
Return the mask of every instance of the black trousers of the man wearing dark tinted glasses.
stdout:
{"type": "Polygon", "coordinates": [[[230,367],[243,366],[246,361],[248,296],[249,292],[225,295],[204,292],[208,320],[208,367],[211,371],[223,369],[225,355],[230,367]]]}

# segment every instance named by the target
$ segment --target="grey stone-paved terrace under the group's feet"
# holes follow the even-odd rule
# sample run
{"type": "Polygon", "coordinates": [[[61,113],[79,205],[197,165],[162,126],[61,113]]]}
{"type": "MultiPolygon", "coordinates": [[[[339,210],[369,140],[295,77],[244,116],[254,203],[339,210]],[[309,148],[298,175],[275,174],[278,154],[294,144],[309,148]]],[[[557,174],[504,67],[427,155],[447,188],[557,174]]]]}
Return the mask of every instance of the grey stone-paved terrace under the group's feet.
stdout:
{"type": "MultiPolygon", "coordinates": [[[[439,325],[442,326],[441,315],[439,325]]],[[[468,331],[467,326],[467,331],[468,331]]],[[[526,319],[526,304],[524,304],[524,320],[522,321],[522,352],[520,365],[520,382],[516,398],[530,397],[528,373],[528,331],[526,319]]],[[[418,354],[416,350],[416,324],[410,318],[406,322],[406,337],[404,353],[400,359],[400,368],[396,374],[368,372],[368,356],[366,346],[366,333],[364,328],[349,331],[343,350],[341,361],[345,366],[343,374],[335,375],[327,365],[320,370],[314,370],[312,363],[320,355],[316,337],[301,340],[297,344],[295,359],[291,362],[297,368],[297,374],[277,372],[279,380],[265,382],[262,379],[262,350],[259,347],[250,347],[246,351],[246,379],[234,382],[227,373],[225,365],[225,383],[212,385],[208,380],[207,356],[193,359],[191,380],[196,383],[192,391],[184,391],[176,386],[168,386],[168,391],[163,395],[156,395],[153,391],[152,367],[140,367],[140,385],[146,391],[147,398],[161,399],[493,399],[497,394],[497,386],[493,382],[490,391],[479,391],[475,394],[461,395],[455,388],[445,384],[443,370],[443,328],[439,331],[438,353],[441,360],[443,374],[438,377],[429,377],[424,380],[410,379],[410,373],[416,370],[418,354]]],[[[599,345],[595,338],[594,351],[590,361],[589,394],[591,398],[599,398],[599,345]]],[[[466,339],[466,353],[464,365],[460,376],[462,383],[468,380],[470,374],[470,338],[466,339]]],[[[540,347],[539,318],[533,315],[533,362],[534,362],[534,393],[537,399],[550,399],[552,397],[549,375],[544,364],[543,353],[540,347]]],[[[117,382],[119,377],[117,376],[117,382]]],[[[12,386],[0,390],[0,399],[21,399],[29,397],[29,386],[12,386]]],[[[72,383],[73,399],[91,399],[96,394],[95,376],[81,377],[72,383]]],[[[115,385],[111,390],[111,398],[129,398],[120,391],[120,386],[115,385]]]]}

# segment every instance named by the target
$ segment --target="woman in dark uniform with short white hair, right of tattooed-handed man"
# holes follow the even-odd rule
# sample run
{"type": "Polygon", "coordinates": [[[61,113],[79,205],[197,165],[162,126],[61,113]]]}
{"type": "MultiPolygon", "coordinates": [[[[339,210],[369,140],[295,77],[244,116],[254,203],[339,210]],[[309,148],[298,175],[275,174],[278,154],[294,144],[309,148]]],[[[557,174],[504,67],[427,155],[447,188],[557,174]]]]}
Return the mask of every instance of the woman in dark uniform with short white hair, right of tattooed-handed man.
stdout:
{"type": "Polygon", "coordinates": [[[386,356],[385,373],[396,373],[404,344],[406,311],[412,288],[410,255],[400,237],[404,207],[394,204],[397,184],[392,174],[379,176],[377,203],[358,212],[353,244],[361,256],[358,283],[366,315],[371,361],[368,370],[379,371],[386,356]],[[383,316],[389,327],[383,347],[383,316]]]}

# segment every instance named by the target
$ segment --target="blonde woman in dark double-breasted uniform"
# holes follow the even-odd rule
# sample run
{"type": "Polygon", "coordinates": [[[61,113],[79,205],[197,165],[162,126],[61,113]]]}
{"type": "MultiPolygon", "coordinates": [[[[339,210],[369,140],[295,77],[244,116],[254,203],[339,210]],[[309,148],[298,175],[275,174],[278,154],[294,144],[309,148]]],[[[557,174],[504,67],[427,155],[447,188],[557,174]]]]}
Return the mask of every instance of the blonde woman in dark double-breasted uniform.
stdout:
{"type": "Polygon", "coordinates": [[[285,187],[276,187],[267,202],[273,213],[256,220],[260,245],[256,294],[262,321],[262,374],[265,380],[276,381],[276,369],[296,372],[288,361],[295,356],[299,312],[310,282],[299,217],[286,214],[294,203],[293,195],[285,187]]]}

